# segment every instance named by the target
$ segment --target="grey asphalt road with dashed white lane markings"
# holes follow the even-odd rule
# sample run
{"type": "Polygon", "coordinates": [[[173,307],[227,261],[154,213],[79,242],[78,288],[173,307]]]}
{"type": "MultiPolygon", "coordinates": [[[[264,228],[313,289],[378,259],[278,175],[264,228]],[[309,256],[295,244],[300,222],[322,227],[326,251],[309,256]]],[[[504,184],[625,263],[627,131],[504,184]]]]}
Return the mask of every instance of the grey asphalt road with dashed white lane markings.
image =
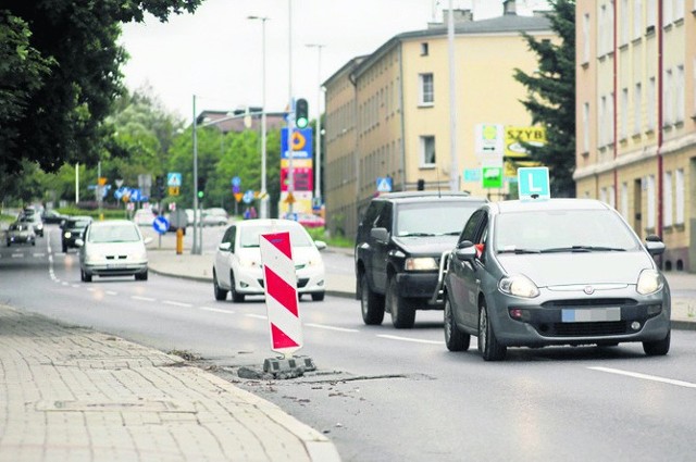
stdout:
{"type": "Polygon", "coordinates": [[[358,301],[326,297],[300,303],[299,353],[315,373],[240,379],[240,366],[273,355],[261,299],[216,302],[209,284],[158,275],[84,284],[75,251],[57,252],[54,226],[47,236],[0,250],[1,302],[202,357],[324,432],[345,461],[693,459],[694,332],[674,330],[664,358],[636,344],[512,349],[506,362],[485,363],[475,349],[446,350],[440,312],[419,312],[411,330],[388,316],[369,327],[358,301]]]}

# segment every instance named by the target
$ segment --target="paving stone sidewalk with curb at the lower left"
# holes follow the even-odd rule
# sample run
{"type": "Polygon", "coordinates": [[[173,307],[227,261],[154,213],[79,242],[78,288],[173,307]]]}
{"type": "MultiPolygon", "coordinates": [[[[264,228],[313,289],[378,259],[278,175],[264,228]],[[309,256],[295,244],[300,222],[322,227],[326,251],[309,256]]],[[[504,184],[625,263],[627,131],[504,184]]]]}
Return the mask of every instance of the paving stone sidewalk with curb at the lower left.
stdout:
{"type": "Polygon", "coordinates": [[[321,433],[179,357],[0,305],[0,462],[338,460],[321,433]]]}

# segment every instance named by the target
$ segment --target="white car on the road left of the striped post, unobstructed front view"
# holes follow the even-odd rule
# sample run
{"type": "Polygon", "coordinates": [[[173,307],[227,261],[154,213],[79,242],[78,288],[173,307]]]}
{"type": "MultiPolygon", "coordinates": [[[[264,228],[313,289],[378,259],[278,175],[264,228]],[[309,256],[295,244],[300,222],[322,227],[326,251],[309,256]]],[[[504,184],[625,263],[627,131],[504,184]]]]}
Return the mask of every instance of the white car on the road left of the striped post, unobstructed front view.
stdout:
{"type": "Polygon", "coordinates": [[[152,238],[144,238],[138,226],[128,220],[92,222],[79,248],[79,275],[84,283],[92,276],[135,276],[148,278],[148,253],[145,246],[152,238]]]}

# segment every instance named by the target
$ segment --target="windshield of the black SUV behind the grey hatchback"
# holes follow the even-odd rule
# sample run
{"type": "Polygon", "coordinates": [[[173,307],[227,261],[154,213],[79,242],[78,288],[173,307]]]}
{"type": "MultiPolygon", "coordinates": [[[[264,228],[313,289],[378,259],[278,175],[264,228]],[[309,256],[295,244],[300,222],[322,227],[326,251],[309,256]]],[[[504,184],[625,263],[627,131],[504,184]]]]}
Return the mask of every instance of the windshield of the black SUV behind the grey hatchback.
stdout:
{"type": "Polygon", "coordinates": [[[459,236],[478,202],[419,202],[399,204],[395,235],[459,236]]]}

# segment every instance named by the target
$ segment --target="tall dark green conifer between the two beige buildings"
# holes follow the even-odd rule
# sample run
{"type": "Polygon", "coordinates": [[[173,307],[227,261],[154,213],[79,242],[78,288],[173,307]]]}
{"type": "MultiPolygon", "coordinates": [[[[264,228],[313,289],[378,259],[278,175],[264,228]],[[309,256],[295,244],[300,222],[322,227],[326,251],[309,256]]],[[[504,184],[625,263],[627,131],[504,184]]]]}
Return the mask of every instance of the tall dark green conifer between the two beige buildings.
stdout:
{"type": "Polygon", "coordinates": [[[526,146],[530,157],[549,167],[551,195],[574,197],[575,182],[575,1],[549,0],[547,14],[558,43],[537,40],[523,33],[530,50],[538,57],[533,75],[515,68],[514,78],[527,87],[521,101],[534,124],[546,127],[544,147],[526,146]]]}

